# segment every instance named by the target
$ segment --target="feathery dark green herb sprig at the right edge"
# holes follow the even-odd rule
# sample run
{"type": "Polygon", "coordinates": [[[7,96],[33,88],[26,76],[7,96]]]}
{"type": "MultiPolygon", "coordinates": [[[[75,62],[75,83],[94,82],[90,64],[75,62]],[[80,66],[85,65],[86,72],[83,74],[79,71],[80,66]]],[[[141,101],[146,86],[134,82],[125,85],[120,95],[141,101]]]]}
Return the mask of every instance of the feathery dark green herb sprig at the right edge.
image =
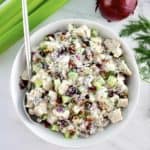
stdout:
{"type": "Polygon", "coordinates": [[[150,82],[150,20],[139,16],[137,20],[129,21],[121,30],[120,36],[130,36],[137,42],[134,48],[141,78],[150,82]]]}

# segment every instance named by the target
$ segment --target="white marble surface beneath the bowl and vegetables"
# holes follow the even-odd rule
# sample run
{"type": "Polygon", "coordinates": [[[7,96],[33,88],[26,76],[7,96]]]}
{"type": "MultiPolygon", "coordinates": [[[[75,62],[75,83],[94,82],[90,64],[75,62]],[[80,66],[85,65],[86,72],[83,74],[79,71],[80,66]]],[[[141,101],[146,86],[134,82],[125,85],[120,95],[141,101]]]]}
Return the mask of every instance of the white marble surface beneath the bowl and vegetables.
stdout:
{"type": "MultiPolygon", "coordinates": [[[[150,0],[139,0],[138,13],[150,17],[150,0]]],[[[86,18],[96,20],[118,33],[121,22],[108,23],[99,13],[94,12],[95,0],[71,0],[63,9],[48,18],[39,27],[54,20],[63,18],[86,18]]],[[[38,27],[38,28],[39,28],[38,27]]],[[[36,28],[36,29],[38,29],[36,28]]],[[[35,29],[35,30],[36,30],[35,29]]],[[[0,55],[0,149],[3,150],[65,150],[67,148],[48,144],[33,135],[18,119],[12,104],[9,91],[9,77],[15,55],[22,41],[18,42],[6,53],[0,55]]],[[[127,126],[115,137],[95,146],[82,148],[82,150],[150,150],[150,85],[141,82],[139,105],[127,126]]],[[[70,149],[68,149],[70,150],[70,149]]]]}

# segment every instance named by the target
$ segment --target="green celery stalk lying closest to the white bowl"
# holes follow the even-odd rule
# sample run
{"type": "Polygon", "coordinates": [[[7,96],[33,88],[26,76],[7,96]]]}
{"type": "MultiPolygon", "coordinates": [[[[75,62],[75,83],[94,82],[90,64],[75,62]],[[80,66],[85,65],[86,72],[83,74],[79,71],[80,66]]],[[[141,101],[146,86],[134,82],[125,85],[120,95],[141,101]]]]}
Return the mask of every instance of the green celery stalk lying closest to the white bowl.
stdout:
{"type": "MultiPolygon", "coordinates": [[[[56,10],[61,8],[69,0],[49,0],[45,2],[29,16],[30,29],[36,27],[39,23],[44,21],[56,10]]],[[[0,37],[0,53],[4,52],[7,48],[12,46],[17,40],[23,36],[23,25],[22,22],[18,23],[11,28],[7,33],[0,37]]]]}

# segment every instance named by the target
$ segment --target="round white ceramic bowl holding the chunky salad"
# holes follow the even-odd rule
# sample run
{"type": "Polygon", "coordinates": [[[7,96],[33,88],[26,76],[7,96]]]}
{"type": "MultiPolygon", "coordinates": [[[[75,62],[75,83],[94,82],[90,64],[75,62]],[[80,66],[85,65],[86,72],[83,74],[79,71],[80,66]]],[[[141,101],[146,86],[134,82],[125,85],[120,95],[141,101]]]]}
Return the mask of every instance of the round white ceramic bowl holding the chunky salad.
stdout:
{"type": "Polygon", "coordinates": [[[124,126],[126,122],[128,122],[129,117],[131,116],[131,113],[135,109],[138,101],[138,94],[139,94],[139,74],[137,65],[134,59],[134,56],[132,54],[132,50],[127,47],[127,45],[120,40],[120,38],[115,35],[112,31],[107,29],[106,27],[95,23],[93,21],[88,20],[81,20],[81,19],[67,19],[67,20],[61,20],[54,23],[50,23],[46,25],[45,27],[41,28],[37,32],[35,32],[31,36],[31,43],[32,47],[34,48],[36,45],[39,44],[39,42],[43,39],[45,35],[48,33],[53,33],[58,30],[63,30],[67,27],[69,23],[74,24],[86,24],[89,27],[96,28],[99,30],[101,36],[107,37],[107,38],[114,38],[118,39],[122,43],[122,47],[124,50],[124,55],[126,58],[126,61],[128,65],[130,66],[133,75],[131,76],[129,80],[129,106],[127,109],[123,112],[124,120],[120,123],[110,125],[107,127],[103,132],[99,132],[93,136],[90,136],[86,139],[65,139],[62,135],[59,135],[58,133],[51,132],[50,130],[44,128],[41,125],[38,125],[36,123],[32,123],[25,115],[24,109],[23,109],[23,97],[24,93],[19,88],[19,76],[25,69],[25,55],[23,51],[23,46],[21,47],[20,51],[18,52],[13,67],[12,67],[12,73],[11,73],[11,95],[12,100],[15,106],[15,109],[17,110],[17,114],[19,115],[22,122],[38,137],[41,139],[56,144],[60,146],[65,147],[83,147],[83,146],[89,146],[95,143],[100,143],[102,140],[105,140],[107,137],[111,137],[112,134],[117,133],[121,127],[124,126]]]}

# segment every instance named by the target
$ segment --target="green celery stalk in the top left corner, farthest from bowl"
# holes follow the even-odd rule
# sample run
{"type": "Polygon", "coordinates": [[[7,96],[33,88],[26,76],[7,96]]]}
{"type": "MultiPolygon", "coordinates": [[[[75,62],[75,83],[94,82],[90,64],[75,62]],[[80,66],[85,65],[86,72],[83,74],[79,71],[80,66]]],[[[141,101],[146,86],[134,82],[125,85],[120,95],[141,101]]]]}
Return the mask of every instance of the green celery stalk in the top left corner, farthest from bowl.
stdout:
{"type": "MultiPolygon", "coordinates": [[[[32,0],[28,0],[28,5],[32,0]]],[[[13,17],[21,11],[21,0],[8,0],[0,9],[0,28],[5,26],[13,17]]]]}

